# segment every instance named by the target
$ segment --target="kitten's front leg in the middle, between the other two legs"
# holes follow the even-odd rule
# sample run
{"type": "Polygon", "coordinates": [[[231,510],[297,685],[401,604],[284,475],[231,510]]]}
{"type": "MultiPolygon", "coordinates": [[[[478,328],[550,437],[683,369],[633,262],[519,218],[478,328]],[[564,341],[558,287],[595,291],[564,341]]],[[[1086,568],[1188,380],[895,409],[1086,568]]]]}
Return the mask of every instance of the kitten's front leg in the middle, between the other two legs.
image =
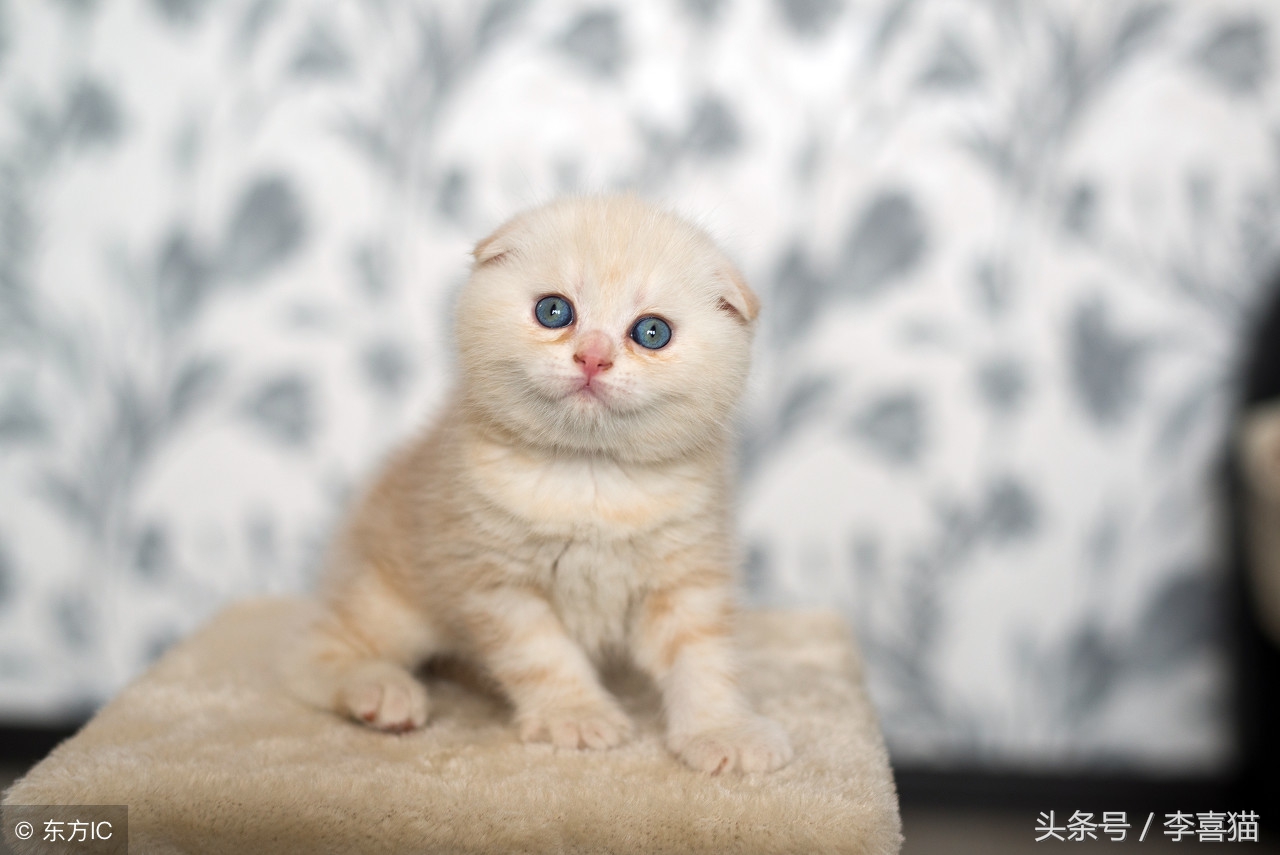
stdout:
{"type": "Polygon", "coordinates": [[[516,707],[521,740],[607,749],[631,736],[631,719],[536,591],[474,594],[463,613],[481,660],[516,707]]]}

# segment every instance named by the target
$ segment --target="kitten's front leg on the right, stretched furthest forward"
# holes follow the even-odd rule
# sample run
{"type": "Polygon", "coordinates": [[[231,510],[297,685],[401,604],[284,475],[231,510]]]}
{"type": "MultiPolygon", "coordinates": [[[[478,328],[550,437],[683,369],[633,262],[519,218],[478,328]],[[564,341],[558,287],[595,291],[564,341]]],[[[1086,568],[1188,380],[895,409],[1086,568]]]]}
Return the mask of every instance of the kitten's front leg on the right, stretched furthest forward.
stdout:
{"type": "Polygon", "coordinates": [[[712,774],[768,772],[791,759],[791,744],[737,687],[732,611],[722,585],[652,593],[635,627],[636,663],[662,689],[667,746],[681,760],[712,774]]]}

